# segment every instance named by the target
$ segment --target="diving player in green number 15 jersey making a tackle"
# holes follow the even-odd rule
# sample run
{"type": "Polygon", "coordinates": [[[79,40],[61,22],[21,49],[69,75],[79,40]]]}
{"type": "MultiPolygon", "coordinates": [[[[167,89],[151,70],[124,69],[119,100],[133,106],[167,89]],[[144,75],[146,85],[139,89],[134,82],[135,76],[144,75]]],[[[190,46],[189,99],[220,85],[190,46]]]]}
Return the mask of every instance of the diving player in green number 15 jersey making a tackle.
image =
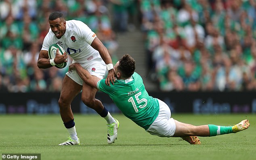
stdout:
{"type": "Polygon", "coordinates": [[[92,77],[78,63],[69,66],[89,85],[105,92],[122,113],[134,123],[143,127],[151,135],[159,137],[181,137],[190,144],[201,144],[197,136],[216,136],[243,131],[250,126],[243,120],[234,126],[201,125],[194,126],[174,120],[170,108],[163,101],[149,96],[143,80],[135,71],[135,60],[124,55],[114,66],[114,85],[105,84],[104,79],[92,77]]]}

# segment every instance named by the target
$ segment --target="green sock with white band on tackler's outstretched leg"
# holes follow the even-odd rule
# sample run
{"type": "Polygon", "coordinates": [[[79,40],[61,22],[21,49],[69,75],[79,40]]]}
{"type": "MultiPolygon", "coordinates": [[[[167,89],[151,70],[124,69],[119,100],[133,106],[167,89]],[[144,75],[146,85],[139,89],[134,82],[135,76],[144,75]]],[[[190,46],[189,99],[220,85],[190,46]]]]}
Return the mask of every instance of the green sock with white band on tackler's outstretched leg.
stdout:
{"type": "Polygon", "coordinates": [[[216,125],[208,125],[210,136],[216,136],[216,135],[224,135],[233,133],[232,126],[216,126],[216,125]]]}

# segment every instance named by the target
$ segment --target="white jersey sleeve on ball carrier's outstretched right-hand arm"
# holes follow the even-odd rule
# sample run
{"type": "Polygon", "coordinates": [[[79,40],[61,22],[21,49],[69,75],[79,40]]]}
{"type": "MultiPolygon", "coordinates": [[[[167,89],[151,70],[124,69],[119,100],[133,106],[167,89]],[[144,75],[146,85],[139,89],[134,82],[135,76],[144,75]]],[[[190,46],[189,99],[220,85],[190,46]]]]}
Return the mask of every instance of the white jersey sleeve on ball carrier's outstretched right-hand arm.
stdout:
{"type": "Polygon", "coordinates": [[[82,21],[76,21],[76,26],[78,29],[78,35],[80,39],[84,39],[88,44],[92,44],[92,41],[97,37],[97,35],[82,21]]]}

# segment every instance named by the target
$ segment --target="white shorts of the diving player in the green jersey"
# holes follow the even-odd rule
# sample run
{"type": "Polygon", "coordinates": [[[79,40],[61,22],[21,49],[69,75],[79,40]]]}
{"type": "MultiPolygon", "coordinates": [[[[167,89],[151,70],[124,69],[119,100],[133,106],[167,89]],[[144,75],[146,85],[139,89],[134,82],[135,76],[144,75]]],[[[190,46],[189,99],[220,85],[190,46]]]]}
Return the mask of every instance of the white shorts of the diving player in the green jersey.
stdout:
{"type": "Polygon", "coordinates": [[[176,125],[171,117],[170,108],[161,100],[159,102],[159,114],[155,121],[150,125],[146,131],[151,135],[159,137],[172,137],[175,133],[176,125]]]}

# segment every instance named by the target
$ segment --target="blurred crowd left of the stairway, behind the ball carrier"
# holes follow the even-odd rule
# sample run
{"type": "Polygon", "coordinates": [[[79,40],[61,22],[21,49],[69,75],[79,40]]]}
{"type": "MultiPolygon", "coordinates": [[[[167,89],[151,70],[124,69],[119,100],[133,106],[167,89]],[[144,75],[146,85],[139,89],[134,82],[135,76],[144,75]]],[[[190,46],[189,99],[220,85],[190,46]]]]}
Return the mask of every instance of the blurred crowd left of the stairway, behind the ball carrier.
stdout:
{"type": "MultiPolygon", "coordinates": [[[[66,20],[86,23],[116,61],[118,43],[111,27],[105,0],[1,0],[0,1],[0,91],[60,91],[68,71],[38,69],[37,59],[50,26],[48,16],[60,11],[66,20]]],[[[68,63],[72,62],[71,57],[68,63]]]]}

